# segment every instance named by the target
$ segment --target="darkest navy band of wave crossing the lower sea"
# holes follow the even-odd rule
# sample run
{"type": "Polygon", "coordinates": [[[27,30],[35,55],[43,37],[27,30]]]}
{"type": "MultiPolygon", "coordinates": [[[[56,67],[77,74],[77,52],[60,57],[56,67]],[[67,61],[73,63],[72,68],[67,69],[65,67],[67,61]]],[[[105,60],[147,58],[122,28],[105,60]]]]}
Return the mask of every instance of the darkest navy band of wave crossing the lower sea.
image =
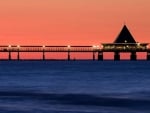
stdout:
{"type": "Polygon", "coordinates": [[[55,93],[37,93],[27,91],[1,91],[0,99],[9,97],[9,99],[33,99],[45,101],[49,104],[63,105],[83,105],[83,106],[101,106],[115,108],[129,108],[150,110],[150,100],[143,98],[127,98],[124,96],[105,96],[93,94],[55,94],[55,93]]]}

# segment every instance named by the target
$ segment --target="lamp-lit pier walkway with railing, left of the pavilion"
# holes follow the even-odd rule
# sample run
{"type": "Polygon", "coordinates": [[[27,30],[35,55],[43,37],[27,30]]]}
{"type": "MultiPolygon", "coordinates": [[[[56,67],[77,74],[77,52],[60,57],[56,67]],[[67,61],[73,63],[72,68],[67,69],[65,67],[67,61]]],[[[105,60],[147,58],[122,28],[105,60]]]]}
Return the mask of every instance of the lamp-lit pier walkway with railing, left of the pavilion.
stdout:
{"type": "Polygon", "coordinates": [[[93,46],[0,46],[0,52],[93,52],[93,46]]]}

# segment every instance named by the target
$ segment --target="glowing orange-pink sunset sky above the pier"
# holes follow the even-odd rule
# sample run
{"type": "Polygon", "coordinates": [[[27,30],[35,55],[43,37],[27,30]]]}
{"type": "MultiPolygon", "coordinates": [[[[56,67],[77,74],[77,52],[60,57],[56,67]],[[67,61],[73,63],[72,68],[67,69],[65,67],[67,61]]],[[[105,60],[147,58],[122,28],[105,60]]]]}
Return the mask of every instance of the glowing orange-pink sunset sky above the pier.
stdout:
{"type": "Polygon", "coordinates": [[[124,23],[150,42],[150,0],[1,0],[0,44],[113,42],[124,23]]]}

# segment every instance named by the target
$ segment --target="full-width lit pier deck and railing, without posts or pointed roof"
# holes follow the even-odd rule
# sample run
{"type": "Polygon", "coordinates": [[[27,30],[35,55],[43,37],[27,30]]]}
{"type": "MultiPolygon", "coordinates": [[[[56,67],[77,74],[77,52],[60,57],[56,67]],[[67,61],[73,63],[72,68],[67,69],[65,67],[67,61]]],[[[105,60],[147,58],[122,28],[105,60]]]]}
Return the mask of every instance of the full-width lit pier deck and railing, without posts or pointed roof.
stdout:
{"type": "Polygon", "coordinates": [[[0,52],[147,52],[150,49],[144,44],[103,44],[102,46],[0,46],[0,52]]]}

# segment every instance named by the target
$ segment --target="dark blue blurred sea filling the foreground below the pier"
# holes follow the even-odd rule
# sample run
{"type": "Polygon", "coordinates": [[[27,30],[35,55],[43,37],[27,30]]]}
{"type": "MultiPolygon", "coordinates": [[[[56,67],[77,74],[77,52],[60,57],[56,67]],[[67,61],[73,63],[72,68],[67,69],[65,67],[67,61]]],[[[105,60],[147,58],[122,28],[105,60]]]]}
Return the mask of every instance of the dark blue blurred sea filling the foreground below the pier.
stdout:
{"type": "Polygon", "coordinates": [[[150,113],[150,62],[0,61],[0,113],[150,113]]]}

